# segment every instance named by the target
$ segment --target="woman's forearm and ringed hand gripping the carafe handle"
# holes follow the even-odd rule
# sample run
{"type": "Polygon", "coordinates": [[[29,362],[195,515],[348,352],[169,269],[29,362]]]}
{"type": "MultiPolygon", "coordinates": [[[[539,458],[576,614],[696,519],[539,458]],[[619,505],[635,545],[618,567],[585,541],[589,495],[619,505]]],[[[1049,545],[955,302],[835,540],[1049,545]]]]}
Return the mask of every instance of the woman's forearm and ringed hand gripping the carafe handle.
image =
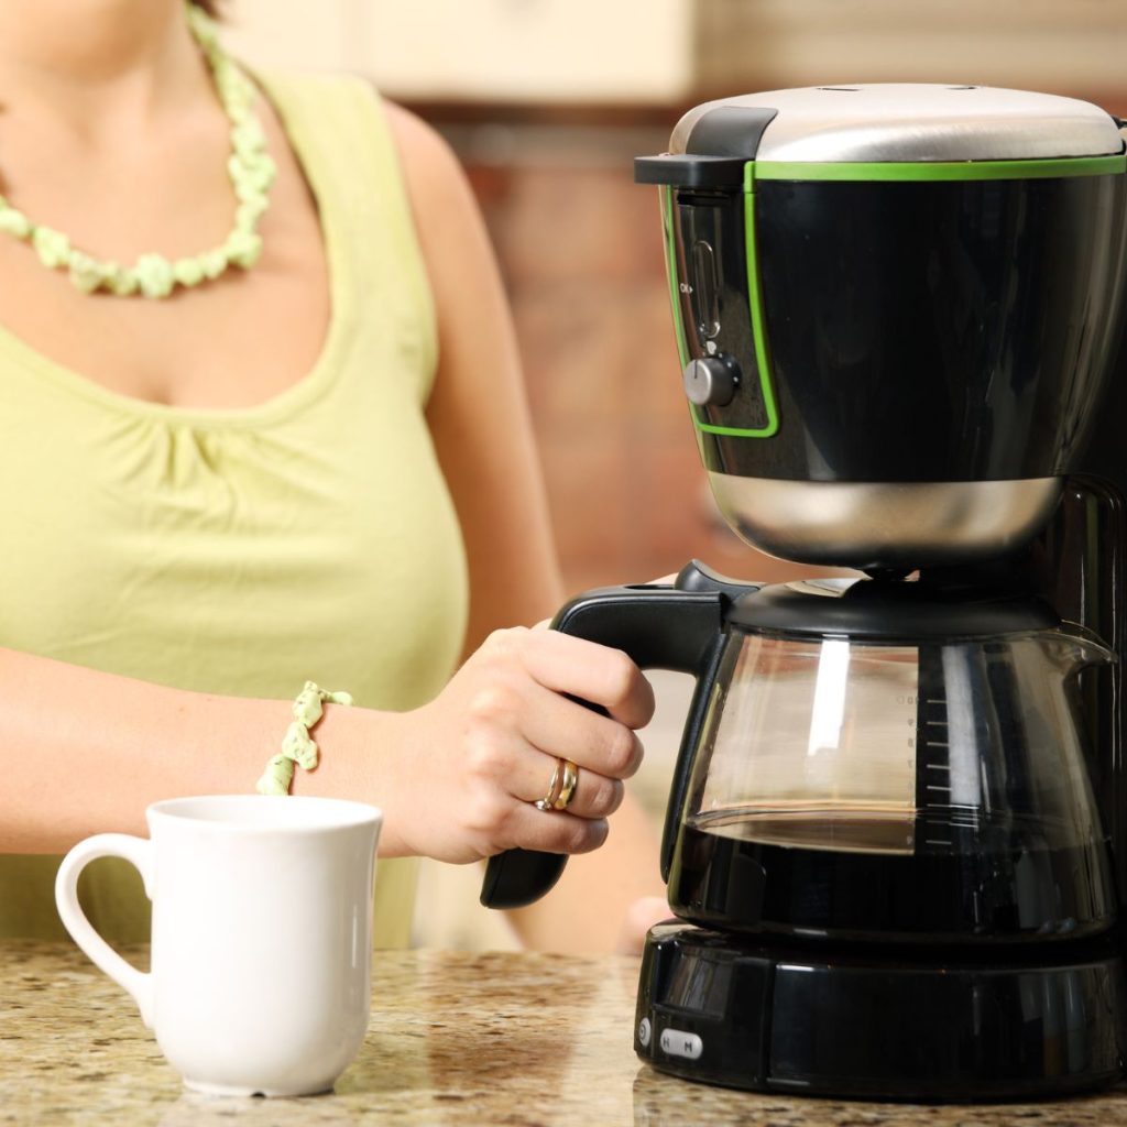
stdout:
{"type": "MultiPolygon", "coordinates": [[[[289,701],[167,689],[5,649],[0,686],[0,853],[143,832],[144,808],[163,798],[250,793],[291,719],[289,701]]],[[[382,807],[383,857],[468,862],[516,845],[585,852],[604,840],[619,780],[638,765],[630,727],[648,718],[649,701],[612,650],[551,631],[502,631],[424,708],[329,704],[313,729],[320,764],[295,773],[293,792],[382,807]],[[616,719],[548,685],[597,700],[616,719]],[[548,818],[517,797],[540,786],[543,756],[529,733],[600,780],[574,814],[548,818]]]]}

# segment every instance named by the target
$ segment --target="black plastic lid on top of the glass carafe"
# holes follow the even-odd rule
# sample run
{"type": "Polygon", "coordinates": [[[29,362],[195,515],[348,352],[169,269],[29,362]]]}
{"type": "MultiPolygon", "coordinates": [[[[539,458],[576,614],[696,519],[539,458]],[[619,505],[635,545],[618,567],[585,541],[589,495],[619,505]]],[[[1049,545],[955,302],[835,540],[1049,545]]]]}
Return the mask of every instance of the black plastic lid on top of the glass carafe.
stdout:
{"type": "Polygon", "coordinates": [[[968,596],[882,579],[774,584],[738,598],[727,621],[745,630],[912,642],[992,638],[1061,625],[1048,604],[1037,598],[968,596]]]}

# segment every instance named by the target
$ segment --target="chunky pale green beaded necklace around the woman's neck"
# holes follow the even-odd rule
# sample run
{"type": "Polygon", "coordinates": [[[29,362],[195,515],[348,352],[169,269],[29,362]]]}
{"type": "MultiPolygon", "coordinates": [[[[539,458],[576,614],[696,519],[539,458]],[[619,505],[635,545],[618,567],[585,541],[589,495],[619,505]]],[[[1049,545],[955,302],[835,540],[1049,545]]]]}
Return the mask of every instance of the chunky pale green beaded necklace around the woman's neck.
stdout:
{"type": "Polygon", "coordinates": [[[266,134],[251,110],[255,88],[219,44],[214,21],[187,2],[188,28],[199,45],[215,82],[219,100],[231,123],[231,157],[227,162],[234,188],[234,227],[216,247],[192,258],[172,261],[163,255],[141,255],[132,266],[95,258],[53,228],[33,223],[0,196],[0,231],[32,243],[39,261],[50,269],[64,269],[83,293],[103,290],[118,298],[167,298],[177,286],[189,289],[218,278],[230,266],[249,269],[263,252],[258,221],[269,206],[269,189],[277,168],[266,151],[266,134]]]}

